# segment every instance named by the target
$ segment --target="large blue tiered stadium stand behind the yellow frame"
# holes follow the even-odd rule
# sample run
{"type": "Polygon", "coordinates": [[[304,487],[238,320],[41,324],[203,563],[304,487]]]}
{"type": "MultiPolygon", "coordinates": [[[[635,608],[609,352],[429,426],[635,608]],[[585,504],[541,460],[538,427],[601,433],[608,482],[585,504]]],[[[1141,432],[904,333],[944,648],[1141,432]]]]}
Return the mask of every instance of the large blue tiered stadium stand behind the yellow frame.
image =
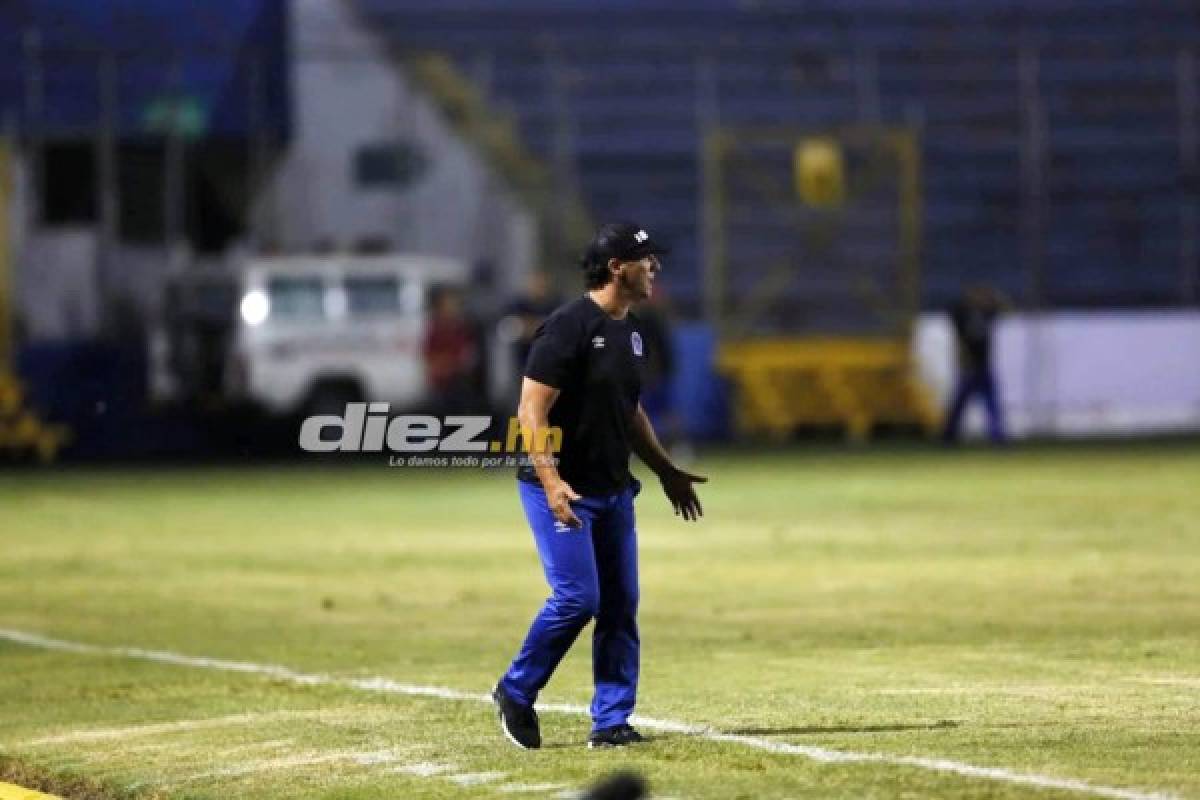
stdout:
{"type": "MultiPolygon", "coordinates": [[[[719,66],[708,89],[724,126],[868,121],[919,131],[926,307],[947,303],[965,282],[1034,300],[1021,233],[1030,191],[1021,143],[1031,128],[1045,133],[1037,300],[1178,302],[1177,209],[1195,186],[1181,169],[1177,65],[1200,36],[1194,5],[703,0],[686,12],[665,0],[358,5],[398,49],[454,58],[496,109],[516,119],[534,154],[562,160],[565,140],[596,217],[650,219],[671,236],[676,253],[665,279],[686,312],[702,306],[704,64],[719,66]],[[1037,53],[1036,61],[1022,52],[1037,53]],[[1037,120],[1021,112],[1031,89],[1037,120]]],[[[740,235],[727,243],[731,252],[780,243],[763,228],[740,235]]]]}

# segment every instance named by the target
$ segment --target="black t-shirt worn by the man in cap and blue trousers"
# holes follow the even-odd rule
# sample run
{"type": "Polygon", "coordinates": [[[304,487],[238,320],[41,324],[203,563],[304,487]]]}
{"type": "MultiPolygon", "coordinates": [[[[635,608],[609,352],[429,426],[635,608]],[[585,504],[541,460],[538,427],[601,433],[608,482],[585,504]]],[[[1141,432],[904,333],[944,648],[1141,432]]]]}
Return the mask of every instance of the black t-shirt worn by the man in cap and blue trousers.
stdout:
{"type": "MultiPolygon", "coordinates": [[[[559,390],[550,425],[563,431],[558,474],[580,494],[612,494],[629,473],[646,361],[637,319],[613,319],[588,295],[559,307],[534,335],[524,374],[559,390]]],[[[532,467],[517,477],[538,482],[532,467]]]]}

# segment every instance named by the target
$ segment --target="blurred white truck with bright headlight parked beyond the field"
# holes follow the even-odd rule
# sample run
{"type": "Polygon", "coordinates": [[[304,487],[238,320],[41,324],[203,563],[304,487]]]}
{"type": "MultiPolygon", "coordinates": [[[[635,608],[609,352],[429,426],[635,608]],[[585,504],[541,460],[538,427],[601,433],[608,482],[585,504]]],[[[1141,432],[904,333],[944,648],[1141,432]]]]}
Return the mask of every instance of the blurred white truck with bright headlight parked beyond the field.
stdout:
{"type": "Polygon", "coordinates": [[[151,396],[272,414],[413,408],[426,391],[428,291],[467,277],[464,264],[425,255],[254,258],[185,273],[150,338],[151,396]]]}

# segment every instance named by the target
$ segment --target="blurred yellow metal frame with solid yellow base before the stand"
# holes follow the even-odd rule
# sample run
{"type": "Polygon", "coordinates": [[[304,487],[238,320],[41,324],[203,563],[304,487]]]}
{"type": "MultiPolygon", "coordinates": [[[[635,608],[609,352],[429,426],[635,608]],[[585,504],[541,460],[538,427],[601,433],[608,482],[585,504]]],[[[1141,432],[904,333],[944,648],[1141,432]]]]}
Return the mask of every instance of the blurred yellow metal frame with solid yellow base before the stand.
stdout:
{"type": "Polygon", "coordinates": [[[722,339],[718,368],[737,386],[739,428],[786,437],[806,426],[840,426],[853,440],[865,439],[880,425],[934,433],[940,411],[908,351],[922,282],[918,132],[862,125],[724,127],[707,133],[702,158],[706,313],[722,339]],[[772,167],[780,154],[792,158],[787,176],[772,167]],[[743,215],[758,207],[779,211],[784,218],[794,215],[797,236],[804,241],[792,258],[752,264],[731,253],[727,228],[739,212],[734,188],[743,215]],[[786,321],[775,321],[774,335],[756,338],[762,320],[784,317],[780,302],[808,258],[805,248],[820,263],[841,235],[838,221],[864,207],[856,204],[878,198],[894,204],[893,265],[869,264],[884,269],[856,275],[852,263],[833,260],[829,269],[841,271],[821,276],[841,279],[841,302],[858,315],[859,330],[874,332],[822,336],[800,327],[790,331],[786,321]],[[746,265],[755,269],[744,270],[746,265]]]}

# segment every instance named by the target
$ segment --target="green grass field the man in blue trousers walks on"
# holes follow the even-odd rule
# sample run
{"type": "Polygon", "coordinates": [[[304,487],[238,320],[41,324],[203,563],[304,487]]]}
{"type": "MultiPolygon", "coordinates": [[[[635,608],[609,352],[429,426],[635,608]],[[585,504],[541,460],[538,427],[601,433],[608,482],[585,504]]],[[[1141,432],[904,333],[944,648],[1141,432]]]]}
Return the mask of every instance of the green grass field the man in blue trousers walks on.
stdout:
{"type": "MultiPolygon", "coordinates": [[[[679,799],[1200,798],[1200,446],[698,468],[701,524],[641,498],[638,710],[733,735],[588,751],[584,716],[545,712],[539,752],[475,697],[545,596],[511,475],[0,473],[0,627],[98,648],[0,638],[0,780],[553,798],[629,766],[679,799]]],[[[589,645],[544,700],[588,702],[589,645]]]]}

